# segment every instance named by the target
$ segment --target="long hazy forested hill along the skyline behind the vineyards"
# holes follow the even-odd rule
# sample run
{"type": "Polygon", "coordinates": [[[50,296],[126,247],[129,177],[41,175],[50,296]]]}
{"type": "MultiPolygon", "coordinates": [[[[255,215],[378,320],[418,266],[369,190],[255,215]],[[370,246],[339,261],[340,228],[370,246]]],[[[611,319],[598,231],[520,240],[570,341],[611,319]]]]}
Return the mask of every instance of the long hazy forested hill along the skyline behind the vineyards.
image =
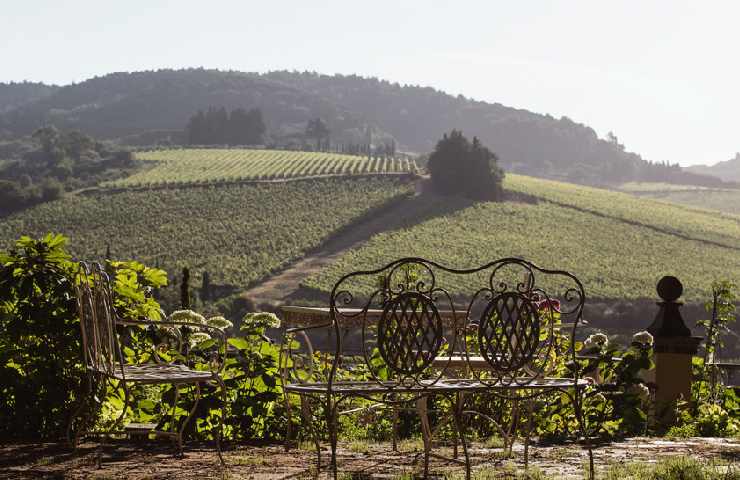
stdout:
{"type": "Polygon", "coordinates": [[[600,139],[586,125],[499,103],[452,96],[429,87],[355,75],[204,69],[113,73],[64,86],[0,115],[0,131],[27,135],[52,122],[131,143],[181,141],[188,118],[209,106],[260,108],[275,145],[302,140],[308,120],[321,117],[334,143],[393,139],[399,148],[427,152],[444,132],[462,129],[495,151],[515,172],[581,183],[642,179],[678,181],[693,175],[651,164],[627,152],[616,137],[600,139]]]}

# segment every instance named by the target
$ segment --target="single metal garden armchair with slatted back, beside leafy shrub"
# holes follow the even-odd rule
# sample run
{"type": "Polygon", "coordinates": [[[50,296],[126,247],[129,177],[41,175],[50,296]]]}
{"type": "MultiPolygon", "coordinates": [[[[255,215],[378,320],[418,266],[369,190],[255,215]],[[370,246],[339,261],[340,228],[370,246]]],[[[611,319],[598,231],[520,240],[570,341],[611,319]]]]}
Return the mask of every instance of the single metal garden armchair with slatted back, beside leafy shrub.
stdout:
{"type": "MultiPolygon", "coordinates": [[[[76,447],[79,439],[87,434],[113,435],[135,432],[139,435],[154,433],[158,436],[170,437],[176,440],[180,455],[183,453],[183,432],[195,414],[201,397],[201,386],[211,383],[218,386],[221,397],[221,415],[219,416],[218,432],[216,434],[216,448],[220,461],[223,409],[226,404],[226,386],[221,378],[226,355],[226,338],[219,328],[208,325],[153,320],[123,320],[116,314],[113,304],[113,295],[110,279],[105,269],[98,263],[80,263],[80,280],[77,283],[77,305],[80,316],[80,330],[84,365],[86,370],[85,388],[77,402],[77,408],[72,413],[67,430],[68,439],[76,447]],[[159,331],[166,330],[168,340],[176,344],[175,350],[181,361],[165,361],[158,347],[152,345],[150,361],[140,364],[129,364],[122,353],[122,343],[119,333],[126,327],[146,328],[155,327],[159,331]],[[203,371],[192,368],[189,364],[188,332],[206,329],[215,340],[215,346],[209,353],[211,370],[203,371]],[[182,361],[185,359],[184,361],[182,361]],[[174,388],[173,413],[171,416],[172,431],[153,428],[146,425],[134,425],[128,430],[115,430],[123,427],[122,422],[129,407],[132,385],[162,385],[169,384],[174,388]],[[124,401],[121,414],[115,421],[113,429],[104,432],[88,430],[90,402],[94,398],[104,396],[108,385],[122,388],[124,401]],[[195,399],[187,417],[180,422],[175,420],[175,411],[179,400],[180,390],[185,386],[195,387],[195,399]]],[[[165,349],[170,354],[171,346],[165,349]],[[167,350],[170,351],[167,351],[167,350]]]]}

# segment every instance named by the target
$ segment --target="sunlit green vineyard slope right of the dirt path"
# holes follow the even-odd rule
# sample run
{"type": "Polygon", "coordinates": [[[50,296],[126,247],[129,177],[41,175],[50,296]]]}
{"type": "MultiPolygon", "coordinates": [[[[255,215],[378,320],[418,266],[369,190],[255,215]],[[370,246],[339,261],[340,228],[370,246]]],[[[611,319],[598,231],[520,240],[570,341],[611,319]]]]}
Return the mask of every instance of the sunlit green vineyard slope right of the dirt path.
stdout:
{"type": "MultiPolygon", "coordinates": [[[[740,219],[606,190],[517,175],[506,178],[509,190],[563,205],[542,200],[451,204],[436,198],[439,216],[376,235],[306,286],[327,292],[341,274],[379,267],[399,255],[433,258],[458,268],[522,256],[572,271],[592,299],[655,298],[657,280],[670,274],[684,281],[686,299],[697,300],[707,297],[713,280],[740,276],[740,249],[712,243],[740,244],[740,219]]],[[[470,280],[451,288],[476,286],[480,283],[470,280]]]]}

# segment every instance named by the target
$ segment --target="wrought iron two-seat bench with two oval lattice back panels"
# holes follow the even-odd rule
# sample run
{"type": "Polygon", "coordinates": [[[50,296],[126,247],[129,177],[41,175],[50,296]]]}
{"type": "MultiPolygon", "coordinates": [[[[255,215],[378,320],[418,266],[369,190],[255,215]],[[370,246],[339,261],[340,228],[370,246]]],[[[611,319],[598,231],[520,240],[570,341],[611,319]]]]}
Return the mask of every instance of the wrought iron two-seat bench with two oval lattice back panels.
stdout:
{"type": "MultiPolygon", "coordinates": [[[[285,365],[292,370],[285,373],[285,391],[323,402],[335,476],[343,402],[362,397],[399,406],[430,395],[446,397],[470,478],[465,396],[485,393],[518,401],[565,392],[583,430],[580,410],[588,383],[579,378],[578,368],[565,375],[563,357],[577,365],[573,345],[584,301],[583,286],[572,274],[517,258],[463,270],[402,258],[352,272],[334,285],[326,323],[286,330],[285,365]],[[462,289],[468,293],[453,293],[462,289]],[[566,321],[569,342],[561,333],[566,321]],[[320,329],[328,329],[332,343],[323,378],[310,361],[294,360],[299,337],[313,355],[308,333],[320,329]],[[481,357],[486,368],[480,368],[481,357]]],[[[425,475],[432,449],[426,436],[425,475]]],[[[316,449],[321,468],[318,438],[316,449]]]]}

